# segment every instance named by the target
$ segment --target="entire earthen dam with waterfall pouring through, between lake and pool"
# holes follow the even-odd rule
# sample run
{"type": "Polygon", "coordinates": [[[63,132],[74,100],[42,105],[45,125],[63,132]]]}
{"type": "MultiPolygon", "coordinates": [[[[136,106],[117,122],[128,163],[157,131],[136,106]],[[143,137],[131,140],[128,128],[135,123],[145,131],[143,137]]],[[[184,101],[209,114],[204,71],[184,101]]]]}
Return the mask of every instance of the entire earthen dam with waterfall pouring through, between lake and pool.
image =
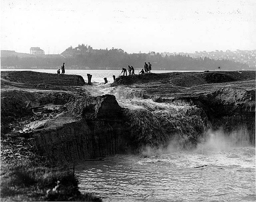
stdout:
{"type": "Polygon", "coordinates": [[[255,145],[254,71],[119,76],[104,87],[77,75],[1,73],[2,155],[10,137],[52,165],[147,148],[187,151],[210,130],[255,145]]]}

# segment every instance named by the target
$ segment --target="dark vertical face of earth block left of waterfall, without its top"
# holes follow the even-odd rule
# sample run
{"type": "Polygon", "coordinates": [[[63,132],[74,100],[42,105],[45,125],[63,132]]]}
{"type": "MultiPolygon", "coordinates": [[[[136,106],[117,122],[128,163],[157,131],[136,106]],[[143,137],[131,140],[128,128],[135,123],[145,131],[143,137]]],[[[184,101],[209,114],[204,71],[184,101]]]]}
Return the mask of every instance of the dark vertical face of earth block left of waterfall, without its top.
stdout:
{"type": "Polygon", "coordinates": [[[121,153],[124,145],[120,122],[83,119],[66,122],[57,118],[61,126],[45,126],[33,132],[32,137],[40,154],[53,162],[76,161],[121,153]],[[65,122],[65,124],[64,124],[65,122]]]}

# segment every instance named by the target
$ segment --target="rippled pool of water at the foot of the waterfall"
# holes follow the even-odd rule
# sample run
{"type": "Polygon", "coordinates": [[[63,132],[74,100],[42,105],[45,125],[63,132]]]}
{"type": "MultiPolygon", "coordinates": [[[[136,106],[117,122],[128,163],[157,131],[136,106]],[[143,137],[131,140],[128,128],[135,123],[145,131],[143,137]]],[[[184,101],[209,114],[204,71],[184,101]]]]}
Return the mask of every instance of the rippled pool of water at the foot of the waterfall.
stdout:
{"type": "Polygon", "coordinates": [[[253,147],[115,155],[76,169],[80,190],[105,202],[255,201],[253,147]]]}

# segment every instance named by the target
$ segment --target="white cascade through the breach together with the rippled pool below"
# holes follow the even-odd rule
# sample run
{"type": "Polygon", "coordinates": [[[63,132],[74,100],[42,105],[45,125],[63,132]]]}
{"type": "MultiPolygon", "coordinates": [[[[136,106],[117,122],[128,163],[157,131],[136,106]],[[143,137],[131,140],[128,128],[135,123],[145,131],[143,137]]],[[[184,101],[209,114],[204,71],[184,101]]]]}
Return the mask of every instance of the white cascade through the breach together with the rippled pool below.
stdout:
{"type": "Polygon", "coordinates": [[[195,106],[156,103],[132,88],[100,84],[91,91],[94,96],[106,93],[129,109],[126,116],[135,129],[145,128],[138,130],[142,134],[131,129],[135,139],[146,136],[154,141],[162,135],[164,141],[162,147],[142,147],[137,155],[81,162],[75,174],[82,192],[104,202],[256,200],[255,148],[246,128],[229,135],[211,131],[195,106]],[[195,135],[201,137],[197,147],[184,147],[195,135]]]}

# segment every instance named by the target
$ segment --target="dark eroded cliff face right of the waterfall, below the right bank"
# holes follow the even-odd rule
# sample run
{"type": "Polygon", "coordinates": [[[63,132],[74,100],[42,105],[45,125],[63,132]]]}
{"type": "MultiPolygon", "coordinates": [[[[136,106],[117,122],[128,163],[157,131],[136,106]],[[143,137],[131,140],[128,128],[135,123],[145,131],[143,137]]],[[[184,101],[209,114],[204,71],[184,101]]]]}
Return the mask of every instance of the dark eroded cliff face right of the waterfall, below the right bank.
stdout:
{"type": "Polygon", "coordinates": [[[191,96],[189,100],[204,109],[212,129],[222,129],[227,134],[239,132],[255,144],[255,88],[238,87],[239,84],[228,86],[198,97],[191,96]]]}

